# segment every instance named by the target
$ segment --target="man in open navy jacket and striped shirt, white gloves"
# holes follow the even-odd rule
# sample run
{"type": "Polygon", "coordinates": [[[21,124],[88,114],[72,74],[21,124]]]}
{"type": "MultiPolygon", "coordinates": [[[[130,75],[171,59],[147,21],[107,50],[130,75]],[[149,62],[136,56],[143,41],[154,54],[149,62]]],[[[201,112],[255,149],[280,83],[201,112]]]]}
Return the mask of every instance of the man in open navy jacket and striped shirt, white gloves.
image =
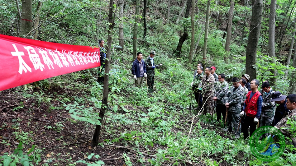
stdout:
{"type": "Polygon", "coordinates": [[[137,58],[131,67],[131,73],[134,75],[135,85],[138,86],[142,85],[143,77],[147,77],[145,61],[142,58],[143,54],[138,52],[137,58]]]}

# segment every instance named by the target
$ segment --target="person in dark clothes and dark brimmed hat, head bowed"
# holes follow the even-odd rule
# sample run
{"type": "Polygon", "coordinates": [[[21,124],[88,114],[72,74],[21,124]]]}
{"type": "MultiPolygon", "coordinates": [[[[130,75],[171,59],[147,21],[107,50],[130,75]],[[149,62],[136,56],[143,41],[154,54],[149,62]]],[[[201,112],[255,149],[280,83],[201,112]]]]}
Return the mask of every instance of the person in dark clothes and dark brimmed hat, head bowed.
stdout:
{"type": "Polygon", "coordinates": [[[275,108],[275,118],[272,122],[272,126],[275,126],[286,114],[288,114],[289,109],[287,108],[287,99],[285,95],[282,95],[280,91],[276,91],[271,94],[272,99],[270,101],[274,101],[276,104],[279,104],[275,108]]]}

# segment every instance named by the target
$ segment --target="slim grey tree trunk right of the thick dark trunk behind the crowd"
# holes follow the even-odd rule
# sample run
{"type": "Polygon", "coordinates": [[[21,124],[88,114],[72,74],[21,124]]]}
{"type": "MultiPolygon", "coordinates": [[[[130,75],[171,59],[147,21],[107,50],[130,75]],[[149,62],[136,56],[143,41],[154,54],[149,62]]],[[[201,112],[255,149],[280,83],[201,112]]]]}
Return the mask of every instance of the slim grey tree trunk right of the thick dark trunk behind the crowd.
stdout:
{"type": "MultiPolygon", "coordinates": [[[[273,59],[271,62],[275,63],[275,6],[276,0],[270,2],[270,16],[269,16],[269,30],[268,30],[268,52],[273,59]]],[[[271,70],[273,76],[270,78],[270,85],[275,89],[276,85],[276,70],[271,70]]]]}

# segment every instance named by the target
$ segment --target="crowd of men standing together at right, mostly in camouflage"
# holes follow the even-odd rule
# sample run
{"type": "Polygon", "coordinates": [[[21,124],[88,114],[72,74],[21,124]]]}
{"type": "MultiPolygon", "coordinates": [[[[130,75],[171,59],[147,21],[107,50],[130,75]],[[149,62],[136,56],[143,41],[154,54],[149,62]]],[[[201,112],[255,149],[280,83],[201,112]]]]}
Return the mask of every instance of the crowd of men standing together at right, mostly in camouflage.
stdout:
{"type": "MultiPolygon", "coordinates": [[[[221,120],[221,114],[225,120],[227,113],[227,128],[224,131],[234,131],[236,139],[240,137],[241,132],[244,133],[244,139],[251,136],[256,127],[259,127],[259,122],[260,127],[274,126],[284,135],[291,137],[287,129],[289,127],[287,120],[289,118],[296,120],[295,94],[285,96],[279,91],[275,92],[268,81],[262,83],[259,91],[259,81],[255,79],[250,81],[250,76],[247,74],[243,74],[241,78],[232,78],[232,85],[228,85],[225,74],[217,75],[215,71],[216,67],[203,69],[199,63],[193,74],[191,86],[198,103],[198,110],[203,114],[208,111],[213,115],[216,105],[217,121],[221,120]]],[[[296,147],[296,138],[291,139],[296,147]]]]}

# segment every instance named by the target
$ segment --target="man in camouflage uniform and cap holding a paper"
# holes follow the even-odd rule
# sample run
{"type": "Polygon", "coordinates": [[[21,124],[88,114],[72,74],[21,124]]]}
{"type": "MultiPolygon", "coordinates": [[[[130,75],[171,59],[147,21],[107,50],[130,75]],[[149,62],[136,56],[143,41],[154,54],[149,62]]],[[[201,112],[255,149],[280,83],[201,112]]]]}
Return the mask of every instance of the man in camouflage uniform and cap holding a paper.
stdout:
{"type": "Polygon", "coordinates": [[[153,92],[153,86],[154,86],[154,69],[156,66],[154,63],[154,56],[155,56],[155,51],[150,51],[150,55],[145,60],[146,71],[147,71],[147,85],[148,85],[149,93],[153,92]]]}

